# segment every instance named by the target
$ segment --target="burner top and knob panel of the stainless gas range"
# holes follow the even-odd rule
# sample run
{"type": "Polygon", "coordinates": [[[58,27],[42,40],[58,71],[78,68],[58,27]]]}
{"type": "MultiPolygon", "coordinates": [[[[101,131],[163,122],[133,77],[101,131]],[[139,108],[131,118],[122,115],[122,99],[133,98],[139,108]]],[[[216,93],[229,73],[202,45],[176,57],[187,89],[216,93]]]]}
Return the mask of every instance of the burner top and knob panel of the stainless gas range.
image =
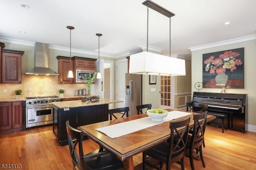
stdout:
{"type": "Polygon", "coordinates": [[[58,96],[37,96],[26,97],[26,106],[28,105],[46,105],[52,102],[60,101],[58,96]]]}

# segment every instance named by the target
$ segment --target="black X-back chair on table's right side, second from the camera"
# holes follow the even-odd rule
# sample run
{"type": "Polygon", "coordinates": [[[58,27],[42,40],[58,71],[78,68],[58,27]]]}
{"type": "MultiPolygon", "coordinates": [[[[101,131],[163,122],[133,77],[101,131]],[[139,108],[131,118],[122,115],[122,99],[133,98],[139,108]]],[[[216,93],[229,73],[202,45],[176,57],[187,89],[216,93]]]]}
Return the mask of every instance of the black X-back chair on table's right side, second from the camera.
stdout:
{"type": "Polygon", "coordinates": [[[193,126],[193,132],[192,135],[188,135],[188,143],[186,145],[186,148],[189,149],[189,160],[190,160],[190,166],[191,169],[194,170],[194,162],[193,162],[193,151],[196,150],[196,153],[200,154],[200,159],[202,161],[202,164],[205,168],[204,164],[204,158],[203,158],[203,152],[202,152],[202,142],[204,140],[204,131],[206,128],[206,116],[207,112],[205,111],[204,113],[201,114],[193,114],[193,120],[194,120],[194,126],[193,126]],[[200,121],[202,120],[202,121],[200,121]]]}

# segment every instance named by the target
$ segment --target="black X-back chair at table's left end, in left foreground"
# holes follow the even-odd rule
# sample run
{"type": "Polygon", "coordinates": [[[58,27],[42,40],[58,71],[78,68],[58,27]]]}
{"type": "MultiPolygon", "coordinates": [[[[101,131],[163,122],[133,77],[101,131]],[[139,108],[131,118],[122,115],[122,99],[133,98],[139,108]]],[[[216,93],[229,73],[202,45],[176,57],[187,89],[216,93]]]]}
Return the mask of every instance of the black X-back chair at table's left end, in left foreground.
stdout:
{"type": "Polygon", "coordinates": [[[84,155],[82,146],[84,135],[82,131],[71,127],[69,121],[66,121],[66,129],[74,170],[116,170],[124,167],[122,162],[107,150],[94,150],[84,155]]]}

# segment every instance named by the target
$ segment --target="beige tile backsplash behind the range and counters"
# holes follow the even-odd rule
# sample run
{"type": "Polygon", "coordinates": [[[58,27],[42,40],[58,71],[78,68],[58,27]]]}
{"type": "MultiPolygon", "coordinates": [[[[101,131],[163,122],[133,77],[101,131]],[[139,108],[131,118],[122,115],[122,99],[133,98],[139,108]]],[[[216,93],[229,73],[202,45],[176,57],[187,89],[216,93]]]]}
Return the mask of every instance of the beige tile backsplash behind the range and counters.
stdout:
{"type": "MultiPolygon", "coordinates": [[[[12,95],[15,89],[22,89],[22,97],[29,96],[59,96],[58,89],[65,89],[64,95],[75,95],[76,89],[87,88],[86,84],[58,84],[58,76],[22,75],[22,83],[0,83],[0,98],[16,98],[12,95]],[[7,89],[7,93],[4,93],[7,89]]],[[[93,90],[93,86],[91,87],[93,90]]]]}

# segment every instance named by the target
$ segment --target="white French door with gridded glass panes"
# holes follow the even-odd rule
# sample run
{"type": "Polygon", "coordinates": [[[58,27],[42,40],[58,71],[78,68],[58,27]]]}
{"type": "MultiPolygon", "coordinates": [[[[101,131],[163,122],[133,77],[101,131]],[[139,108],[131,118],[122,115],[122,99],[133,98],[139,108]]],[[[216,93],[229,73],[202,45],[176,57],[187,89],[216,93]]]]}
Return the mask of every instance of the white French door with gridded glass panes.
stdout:
{"type": "Polygon", "coordinates": [[[174,77],[160,76],[160,108],[174,109],[174,77]]]}

